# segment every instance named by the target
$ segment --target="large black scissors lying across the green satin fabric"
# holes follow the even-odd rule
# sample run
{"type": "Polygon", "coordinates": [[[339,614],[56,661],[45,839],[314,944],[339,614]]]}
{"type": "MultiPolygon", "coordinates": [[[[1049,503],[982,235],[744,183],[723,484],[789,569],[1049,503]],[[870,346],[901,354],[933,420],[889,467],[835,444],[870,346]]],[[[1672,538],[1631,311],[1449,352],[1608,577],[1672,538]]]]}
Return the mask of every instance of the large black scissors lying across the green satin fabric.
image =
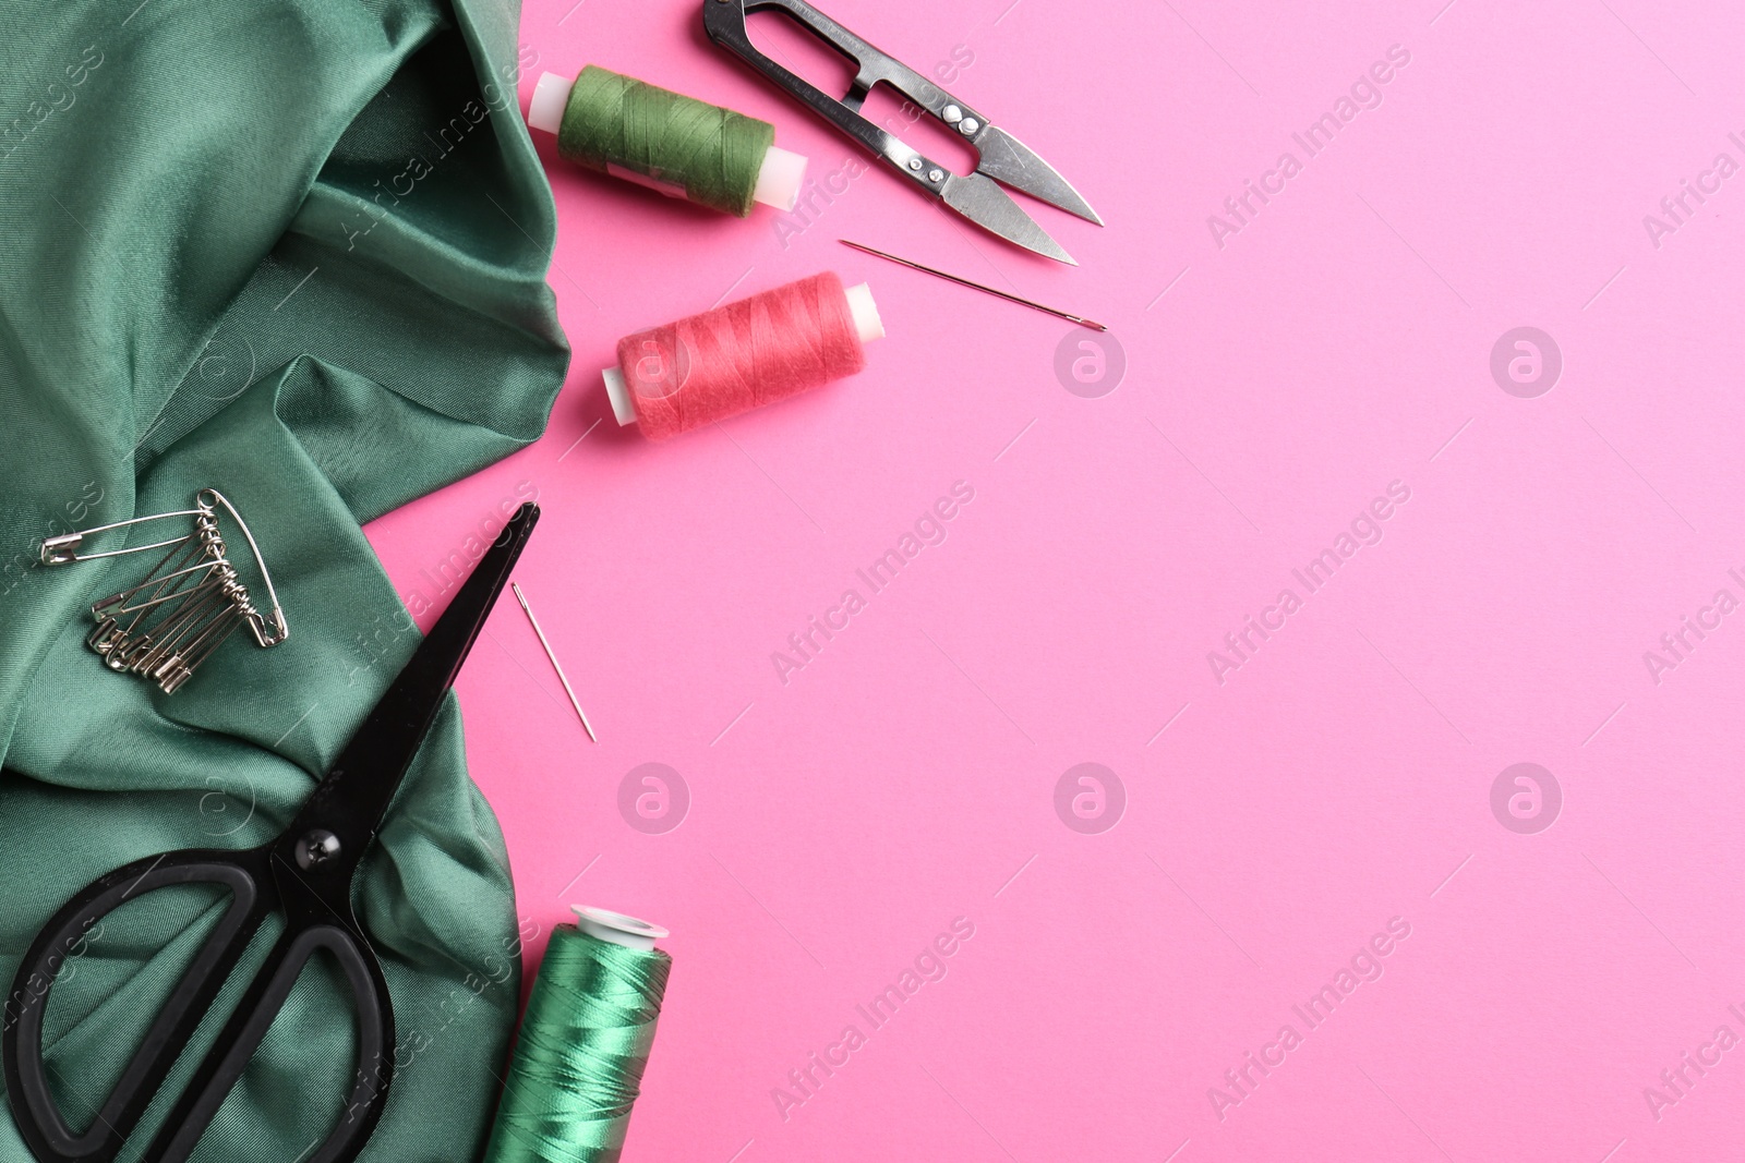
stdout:
{"type": "Polygon", "coordinates": [[[138,1160],[181,1163],[188,1158],[243,1076],[297,975],[318,950],[332,954],[351,987],[358,1017],[358,1067],[339,1123],[312,1154],[305,1151],[298,1158],[302,1163],[351,1163],[358,1158],[375,1130],[393,1079],[394,1008],[370,938],[352,915],[352,881],[537,520],[534,504],[524,504],[510,518],[503,535],[276,840],[246,851],[183,849],[136,860],[86,886],[37,935],[7,996],[0,1058],[19,1135],[40,1163],[110,1163],[117,1158],[250,938],[272,912],[284,915],[284,933],[138,1160]],[[176,884],[223,886],[230,891],[230,903],[91,1126],[75,1133],[49,1092],[42,1055],[42,1018],[51,987],[105,915],[140,893],[176,884]]]}

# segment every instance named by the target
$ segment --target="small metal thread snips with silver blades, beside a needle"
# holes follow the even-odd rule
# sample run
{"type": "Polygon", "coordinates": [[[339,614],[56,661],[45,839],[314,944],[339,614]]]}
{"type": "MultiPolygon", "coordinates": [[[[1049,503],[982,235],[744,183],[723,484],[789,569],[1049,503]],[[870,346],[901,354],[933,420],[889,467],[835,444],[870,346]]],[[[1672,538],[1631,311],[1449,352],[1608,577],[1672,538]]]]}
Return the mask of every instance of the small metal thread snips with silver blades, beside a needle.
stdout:
{"type": "Polygon", "coordinates": [[[1052,166],[1037,157],[1028,145],[1007,131],[996,129],[988,117],[974,110],[967,101],[960,101],[902,61],[872,47],[806,3],[806,0],[703,0],[703,31],[717,45],[743,59],[782,89],[787,89],[797,101],[808,105],[815,113],[859,141],[871,153],[883,157],[904,178],[982,230],[998,234],[1002,239],[1038,255],[1047,255],[1075,267],[1078,265],[1059,242],[1049,237],[1047,230],[1019,209],[1017,202],[998,183],[1023,190],[1035,199],[1064,209],[1068,214],[1077,214],[1099,227],[1103,225],[1103,220],[1096,216],[1091,204],[1073,190],[1066,178],[1061,178],[1052,166]],[[782,68],[752,45],[745,31],[745,16],[770,9],[789,14],[801,28],[855,63],[859,71],[845,98],[836,99],[829,96],[806,78],[782,68]],[[866,103],[867,94],[872,92],[872,85],[878,84],[890,85],[961,136],[975,150],[974,173],[956,174],[951,167],[906,145],[897,134],[886,133],[867,120],[860,113],[860,106],[866,103]]]}

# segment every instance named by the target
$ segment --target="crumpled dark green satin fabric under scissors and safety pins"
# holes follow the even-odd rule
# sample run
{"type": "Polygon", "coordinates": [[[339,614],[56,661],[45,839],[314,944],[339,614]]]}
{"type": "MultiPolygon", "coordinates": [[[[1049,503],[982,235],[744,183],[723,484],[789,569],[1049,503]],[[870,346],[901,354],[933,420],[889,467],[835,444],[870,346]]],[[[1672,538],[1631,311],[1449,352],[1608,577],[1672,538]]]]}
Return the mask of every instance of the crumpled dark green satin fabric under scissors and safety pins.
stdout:
{"type": "MultiPolygon", "coordinates": [[[[288,823],[417,642],[359,523],[543,432],[569,354],[517,26],[513,0],[0,9],[7,987],[98,874],[288,823]],[[37,544],[188,507],[208,485],[248,518],[291,636],[260,650],[236,635],[162,696],[84,645],[87,605],[150,558],[40,568],[37,544]]],[[[400,1030],[361,1158],[476,1158],[518,933],[452,697],[359,881],[400,1030]]],[[[45,1039],[75,1125],[216,903],[143,894],[61,973],[45,1039]]],[[[339,990],[304,973],[195,1158],[288,1161],[326,1133],[352,1069],[339,990]]],[[[0,1161],[26,1158],[9,1111],[0,1161]]]]}

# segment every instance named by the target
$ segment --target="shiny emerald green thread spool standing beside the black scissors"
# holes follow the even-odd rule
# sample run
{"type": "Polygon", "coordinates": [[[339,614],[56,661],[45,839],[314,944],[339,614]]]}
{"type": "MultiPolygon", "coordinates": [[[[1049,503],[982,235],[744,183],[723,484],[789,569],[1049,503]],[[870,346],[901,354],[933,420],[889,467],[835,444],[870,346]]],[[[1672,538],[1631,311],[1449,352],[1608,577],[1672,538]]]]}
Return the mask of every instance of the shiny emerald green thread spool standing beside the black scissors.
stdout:
{"type": "Polygon", "coordinates": [[[576,905],[551,929],[485,1163],[616,1163],[672,957],[667,929],[576,905]]]}

